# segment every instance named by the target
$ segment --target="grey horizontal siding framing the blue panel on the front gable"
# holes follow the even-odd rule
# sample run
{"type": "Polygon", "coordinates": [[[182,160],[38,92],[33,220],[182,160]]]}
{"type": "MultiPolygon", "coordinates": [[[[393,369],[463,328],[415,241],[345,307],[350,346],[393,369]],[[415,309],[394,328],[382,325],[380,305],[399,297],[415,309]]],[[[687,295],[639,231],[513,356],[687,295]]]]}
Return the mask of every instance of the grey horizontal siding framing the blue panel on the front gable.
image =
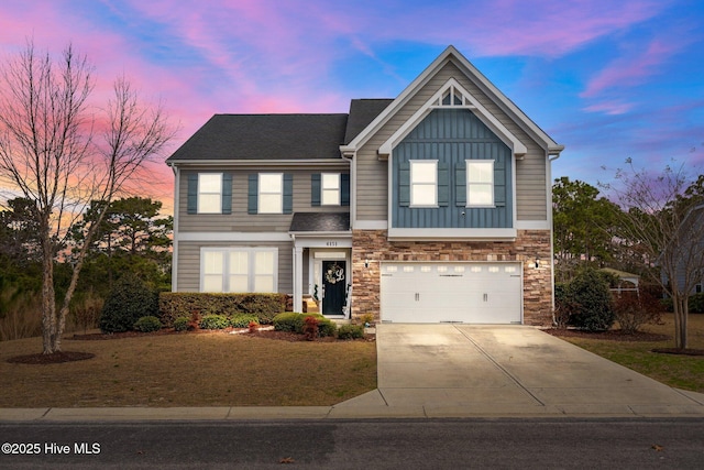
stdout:
{"type": "Polygon", "coordinates": [[[356,219],[387,220],[388,171],[387,162],[380,161],[377,150],[409,120],[450,79],[454,78],[476,98],[488,112],[522,142],[528,152],[516,161],[516,219],[548,220],[547,155],[518,124],[504,113],[454,64],[438,72],[396,114],[389,119],[358,151],[356,159],[356,219]]]}

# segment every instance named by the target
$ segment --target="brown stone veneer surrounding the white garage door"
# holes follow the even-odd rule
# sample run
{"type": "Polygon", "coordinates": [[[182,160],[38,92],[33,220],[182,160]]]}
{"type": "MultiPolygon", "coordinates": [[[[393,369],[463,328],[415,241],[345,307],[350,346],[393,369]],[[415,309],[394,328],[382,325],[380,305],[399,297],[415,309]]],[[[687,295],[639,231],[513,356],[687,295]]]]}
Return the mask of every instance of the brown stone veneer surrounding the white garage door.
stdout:
{"type": "Polygon", "coordinates": [[[513,242],[388,241],[386,230],[353,230],[352,247],[353,318],[372,314],[380,319],[383,261],[514,261],[524,266],[524,324],[552,324],[550,230],[518,230],[513,242]]]}

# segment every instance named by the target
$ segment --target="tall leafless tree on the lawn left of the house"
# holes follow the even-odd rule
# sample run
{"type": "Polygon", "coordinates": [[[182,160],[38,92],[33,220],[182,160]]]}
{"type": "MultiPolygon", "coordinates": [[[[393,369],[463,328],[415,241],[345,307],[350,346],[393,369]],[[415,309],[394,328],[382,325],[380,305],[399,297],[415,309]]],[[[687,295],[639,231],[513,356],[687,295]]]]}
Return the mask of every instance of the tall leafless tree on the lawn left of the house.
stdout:
{"type": "Polygon", "coordinates": [[[110,201],[129,189],[138,171],[160,153],[174,132],[161,106],[144,107],[124,78],[105,109],[89,107],[92,67],[66,47],[61,59],[38,54],[32,41],[0,68],[0,182],[35,206],[42,248],[43,352],[61,351],[69,303],[88,245],[110,201]],[[97,132],[96,129],[102,129],[97,132]],[[54,262],[70,227],[90,201],[101,201],[61,307],[54,262]]]}

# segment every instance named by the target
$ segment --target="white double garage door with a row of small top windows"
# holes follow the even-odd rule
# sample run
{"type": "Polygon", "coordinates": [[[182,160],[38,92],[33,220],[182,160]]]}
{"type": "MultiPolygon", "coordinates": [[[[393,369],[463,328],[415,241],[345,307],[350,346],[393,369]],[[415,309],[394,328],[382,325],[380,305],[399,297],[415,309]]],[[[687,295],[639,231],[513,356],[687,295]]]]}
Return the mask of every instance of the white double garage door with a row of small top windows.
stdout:
{"type": "Polygon", "coordinates": [[[520,324],[518,263],[382,263],[382,321],[520,324]]]}

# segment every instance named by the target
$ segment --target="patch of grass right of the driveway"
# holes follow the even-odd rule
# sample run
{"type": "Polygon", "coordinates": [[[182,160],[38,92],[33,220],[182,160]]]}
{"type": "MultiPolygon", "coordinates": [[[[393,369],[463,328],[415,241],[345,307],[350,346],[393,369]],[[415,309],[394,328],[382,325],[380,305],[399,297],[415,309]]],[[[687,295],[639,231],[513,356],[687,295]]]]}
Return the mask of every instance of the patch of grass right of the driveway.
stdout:
{"type": "MultiPolygon", "coordinates": [[[[704,393],[703,356],[652,352],[653,348],[674,348],[672,314],[662,316],[662,325],[647,325],[642,331],[667,335],[669,339],[650,342],[573,337],[562,339],[670,386],[704,393]]],[[[689,347],[704,349],[704,315],[690,315],[689,317],[689,347]]]]}

